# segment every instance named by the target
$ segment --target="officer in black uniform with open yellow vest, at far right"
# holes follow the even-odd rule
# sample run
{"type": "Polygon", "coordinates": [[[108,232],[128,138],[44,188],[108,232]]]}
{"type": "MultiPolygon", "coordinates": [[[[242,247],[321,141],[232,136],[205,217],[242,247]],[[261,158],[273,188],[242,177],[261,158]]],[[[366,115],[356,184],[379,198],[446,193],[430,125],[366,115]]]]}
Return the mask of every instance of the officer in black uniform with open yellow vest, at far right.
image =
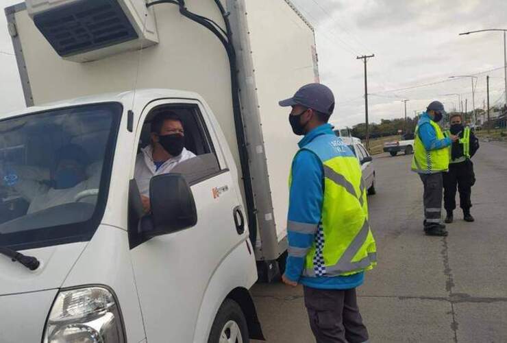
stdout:
{"type": "Polygon", "coordinates": [[[450,128],[444,134],[459,136],[459,140],[450,147],[449,171],[443,174],[444,209],[447,211],[445,222],[450,224],[454,220],[453,211],[456,209],[456,186],[460,192],[460,207],[463,219],[473,222],[470,214],[472,202],[470,199],[472,186],[475,184],[475,174],[471,157],[479,149],[479,140],[468,126],[463,126],[461,115],[454,114],[450,118],[450,128]]]}

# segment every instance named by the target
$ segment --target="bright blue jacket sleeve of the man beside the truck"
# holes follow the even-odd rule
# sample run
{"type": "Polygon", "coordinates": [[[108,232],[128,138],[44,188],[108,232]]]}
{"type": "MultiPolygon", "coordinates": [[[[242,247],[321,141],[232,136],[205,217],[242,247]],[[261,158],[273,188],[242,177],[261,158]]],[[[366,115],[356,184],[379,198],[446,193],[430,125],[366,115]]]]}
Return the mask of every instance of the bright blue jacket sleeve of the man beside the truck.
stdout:
{"type": "Polygon", "coordinates": [[[285,276],[291,281],[299,281],[306,255],[312,247],[322,216],[324,176],[322,163],[314,153],[302,150],[294,159],[292,176],[285,276]]]}

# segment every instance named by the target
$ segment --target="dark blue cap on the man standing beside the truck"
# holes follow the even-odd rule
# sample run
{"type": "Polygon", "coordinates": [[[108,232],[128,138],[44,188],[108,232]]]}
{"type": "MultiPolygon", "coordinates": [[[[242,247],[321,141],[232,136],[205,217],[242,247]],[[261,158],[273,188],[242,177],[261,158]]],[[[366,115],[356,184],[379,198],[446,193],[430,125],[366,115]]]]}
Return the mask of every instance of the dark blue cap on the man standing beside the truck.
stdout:
{"type": "Polygon", "coordinates": [[[332,115],[334,95],[330,88],[323,84],[306,84],[299,88],[293,97],[282,100],[278,104],[282,107],[300,105],[325,115],[332,115]]]}

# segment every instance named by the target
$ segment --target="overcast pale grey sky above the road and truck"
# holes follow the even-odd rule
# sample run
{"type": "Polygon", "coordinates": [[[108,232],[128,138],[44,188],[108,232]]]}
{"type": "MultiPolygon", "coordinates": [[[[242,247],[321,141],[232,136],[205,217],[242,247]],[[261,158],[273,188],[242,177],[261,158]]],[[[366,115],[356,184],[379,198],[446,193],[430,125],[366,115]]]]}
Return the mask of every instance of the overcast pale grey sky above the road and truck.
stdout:
{"type": "MultiPolygon", "coordinates": [[[[19,0],[0,0],[12,5],[19,0]]],[[[247,0],[255,1],[255,0],[247,0]]],[[[282,0],[277,0],[282,1],[282,0]]],[[[423,110],[432,99],[447,109],[458,107],[460,93],[471,108],[471,79],[452,75],[478,74],[475,107],[486,98],[504,104],[503,36],[486,32],[458,36],[476,29],[507,29],[506,0],[292,0],[317,32],[321,82],[334,91],[338,106],[333,120],[342,126],[364,122],[364,66],[368,61],[370,121],[403,117],[423,110]],[[483,73],[491,69],[489,73],[483,73]],[[444,81],[444,82],[441,82],[444,81]],[[411,88],[441,82],[432,86],[411,88]],[[454,104],[453,104],[454,103],[454,104]]],[[[0,15],[0,111],[24,106],[23,93],[5,16],[0,15]]],[[[465,100],[463,100],[465,102],[465,100]]]]}

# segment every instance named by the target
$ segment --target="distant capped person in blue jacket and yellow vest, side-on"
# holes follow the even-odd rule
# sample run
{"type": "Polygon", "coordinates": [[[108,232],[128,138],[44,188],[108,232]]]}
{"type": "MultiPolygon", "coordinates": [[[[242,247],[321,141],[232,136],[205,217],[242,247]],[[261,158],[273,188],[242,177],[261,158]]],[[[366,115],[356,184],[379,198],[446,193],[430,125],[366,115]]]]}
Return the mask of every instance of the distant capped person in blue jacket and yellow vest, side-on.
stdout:
{"type": "Polygon", "coordinates": [[[445,114],[441,102],[432,102],[421,115],[415,129],[412,171],[419,174],[424,185],[424,232],[429,236],[447,236],[441,223],[443,173],[449,169],[449,146],[458,140],[451,134],[444,137],[438,126],[445,114]]]}

